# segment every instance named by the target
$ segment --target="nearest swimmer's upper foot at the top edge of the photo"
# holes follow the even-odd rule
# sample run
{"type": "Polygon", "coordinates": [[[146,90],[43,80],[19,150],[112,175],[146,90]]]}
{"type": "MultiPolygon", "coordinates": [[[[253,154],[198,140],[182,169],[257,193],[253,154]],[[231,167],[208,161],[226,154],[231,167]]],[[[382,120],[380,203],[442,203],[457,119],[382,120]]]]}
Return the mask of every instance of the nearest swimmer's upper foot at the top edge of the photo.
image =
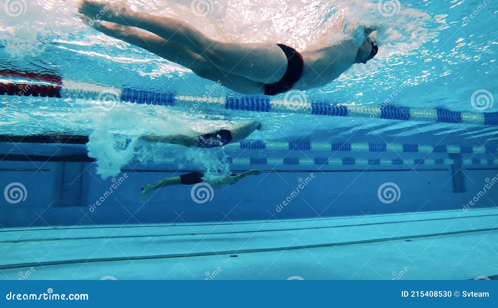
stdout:
{"type": "Polygon", "coordinates": [[[124,4],[109,3],[96,0],[82,0],[78,11],[93,20],[106,20],[116,22],[121,15],[133,13],[133,11],[124,4]]]}

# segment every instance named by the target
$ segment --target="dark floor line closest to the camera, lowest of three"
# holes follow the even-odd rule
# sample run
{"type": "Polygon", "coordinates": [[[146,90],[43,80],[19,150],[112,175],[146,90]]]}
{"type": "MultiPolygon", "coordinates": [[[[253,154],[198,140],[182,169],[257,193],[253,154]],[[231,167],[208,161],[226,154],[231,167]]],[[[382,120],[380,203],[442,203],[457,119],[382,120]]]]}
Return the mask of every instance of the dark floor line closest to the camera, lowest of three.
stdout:
{"type": "Polygon", "coordinates": [[[63,261],[17,263],[17,264],[0,265],[0,270],[23,268],[23,267],[35,267],[35,266],[45,267],[45,266],[51,266],[51,265],[69,265],[69,264],[78,264],[78,263],[97,263],[97,262],[205,257],[205,256],[216,256],[216,255],[218,255],[218,256],[235,255],[235,254],[242,254],[242,253],[258,253],[258,252],[274,252],[274,251],[286,251],[286,250],[313,249],[313,248],[324,248],[324,247],[332,247],[332,246],[334,246],[334,247],[335,246],[348,246],[348,245],[368,244],[368,243],[386,242],[386,241],[394,241],[394,240],[425,238],[425,237],[434,237],[434,236],[440,237],[440,236],[445,236],[445,235],[455,235],[455,234],[463,234],[463,233],[476,233],[476,232],[487,232],[487,231],[491,232],[491,231],[495,231],[495,230],[498,230],[498,228],[463,230],[463,231],[421,234],[421,235],[412,235],[412,236],[377,238],[377,239],[369,239],[369,240],[362,240],[362,241],[338,242],[338,243],[314,244],[314,245],[300,245],[300,246],[290,246],[290,247],[261,248],[261,249],[247,249],[247,250],[228,250],[228,251],[213,251],[213,252],[197,252],[197,253],[186,253],[186,254],[183,253],[183,254],[171,254],[171,255],[114,257],[114,258],[95,258],[95,259],[74,259],[74,260],[63,260],[63,261]]]}

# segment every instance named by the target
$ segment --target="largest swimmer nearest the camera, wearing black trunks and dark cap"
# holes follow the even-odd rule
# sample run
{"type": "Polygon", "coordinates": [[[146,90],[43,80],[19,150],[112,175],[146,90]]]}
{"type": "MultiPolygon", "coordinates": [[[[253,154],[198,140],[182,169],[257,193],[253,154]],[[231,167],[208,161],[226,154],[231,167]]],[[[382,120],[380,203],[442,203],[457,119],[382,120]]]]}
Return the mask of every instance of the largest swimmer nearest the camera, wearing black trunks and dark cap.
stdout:
{"type": "Polygon", "coordinates": [[[135,12],[119,3],[83,0],[79,11],[98,31],[241,94],[273,96],[325,86],[378,52],[369,38],[373,29],[364,29],[366,39],[360,47],[351,38],[299,53],[282,44],[216,41],[182,20],[135,12]]]}

